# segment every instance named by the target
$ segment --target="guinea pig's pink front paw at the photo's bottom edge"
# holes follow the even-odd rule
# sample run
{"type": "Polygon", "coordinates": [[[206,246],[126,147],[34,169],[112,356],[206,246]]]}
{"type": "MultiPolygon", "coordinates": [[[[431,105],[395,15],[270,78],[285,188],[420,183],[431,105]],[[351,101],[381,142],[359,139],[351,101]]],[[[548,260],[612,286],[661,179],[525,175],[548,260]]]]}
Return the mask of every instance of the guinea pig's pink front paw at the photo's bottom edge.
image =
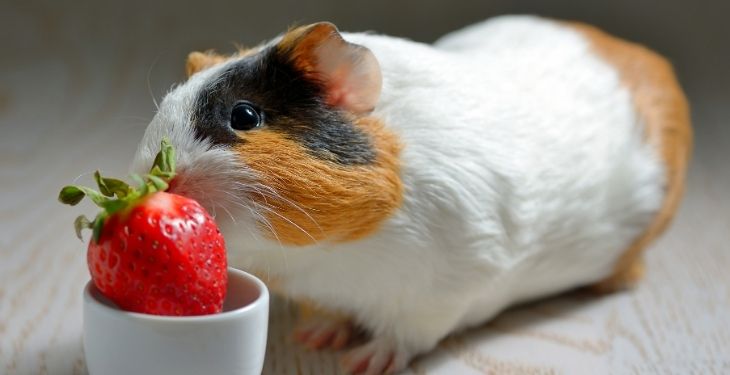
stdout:
{"type": "Polygon", "coordinates": [[[406,368],[412,354],[399,348],[395,340],[380,337],[351,349],[342,357],[342,367],[350,374],[393,374],[406,368]]]}

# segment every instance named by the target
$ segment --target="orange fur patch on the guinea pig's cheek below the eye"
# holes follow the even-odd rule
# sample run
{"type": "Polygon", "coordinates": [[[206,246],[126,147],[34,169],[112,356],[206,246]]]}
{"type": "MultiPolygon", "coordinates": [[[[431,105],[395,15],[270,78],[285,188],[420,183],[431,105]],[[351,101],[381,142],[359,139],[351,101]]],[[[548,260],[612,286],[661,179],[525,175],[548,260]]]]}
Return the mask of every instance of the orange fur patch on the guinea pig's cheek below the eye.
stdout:
{"type": "Polygon", "coordinates": [[[237,146],[243,161],[258,172],[261,182],[281,197],[253,195],[270,227],[261,229],[287,245],[322,240],[352,241],[379,227],[400,205],[400,143],[373,117],[355,121],[370,135],[376,150],[371,165],[340,165],[310,154],[284,134],[260,130],[242,134],[237,146]]]}

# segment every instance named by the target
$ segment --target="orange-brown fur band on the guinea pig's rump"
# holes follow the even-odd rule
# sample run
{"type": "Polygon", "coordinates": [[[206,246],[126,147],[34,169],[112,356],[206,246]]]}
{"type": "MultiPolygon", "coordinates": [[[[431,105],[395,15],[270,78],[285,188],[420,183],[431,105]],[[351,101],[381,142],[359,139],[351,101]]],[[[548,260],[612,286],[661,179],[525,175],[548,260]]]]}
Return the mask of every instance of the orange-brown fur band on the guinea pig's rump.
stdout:
{"type": "Polygon", "coordinates": [[[689,106],[672,66],[663,57],[595,27],[568,25],[582,33],[596,53],[618,70],[643,120],[646,141],[657,150],[666,168],[666,195],[656,218],[619,258],[614,274],[595,286],[599,291],[612,291],[642,276],[642,250],[667,228],[679,207],[692,149],[689,106]]]}

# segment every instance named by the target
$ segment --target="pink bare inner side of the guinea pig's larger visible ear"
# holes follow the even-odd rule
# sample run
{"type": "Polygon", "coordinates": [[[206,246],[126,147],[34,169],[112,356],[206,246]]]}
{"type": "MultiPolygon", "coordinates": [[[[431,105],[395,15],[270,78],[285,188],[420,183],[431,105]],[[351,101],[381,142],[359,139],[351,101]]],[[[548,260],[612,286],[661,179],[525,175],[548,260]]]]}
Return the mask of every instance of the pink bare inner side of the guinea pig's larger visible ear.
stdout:
{"type": "Polygon", "coordinates": [[[316,50],[316,70],[327,85],[327,103],[353,113],[367,113],[380,98],[380,65],[369,49],[333,34],[316,50]]]}

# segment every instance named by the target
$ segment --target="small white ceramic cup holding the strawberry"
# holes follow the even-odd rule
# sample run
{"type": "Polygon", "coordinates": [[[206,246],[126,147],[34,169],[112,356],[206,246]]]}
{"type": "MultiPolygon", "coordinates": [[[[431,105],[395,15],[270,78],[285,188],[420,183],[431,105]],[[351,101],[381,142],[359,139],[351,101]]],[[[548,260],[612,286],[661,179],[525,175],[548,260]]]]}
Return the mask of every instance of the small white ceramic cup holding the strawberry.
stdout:
{"type": "Polygon", "coordinates": [[[89,282],[84,288],[84,351],[91,375],[260,374],[269,292],[228,269],[220,314],[169,317],[120,310],[89,282]]]}

